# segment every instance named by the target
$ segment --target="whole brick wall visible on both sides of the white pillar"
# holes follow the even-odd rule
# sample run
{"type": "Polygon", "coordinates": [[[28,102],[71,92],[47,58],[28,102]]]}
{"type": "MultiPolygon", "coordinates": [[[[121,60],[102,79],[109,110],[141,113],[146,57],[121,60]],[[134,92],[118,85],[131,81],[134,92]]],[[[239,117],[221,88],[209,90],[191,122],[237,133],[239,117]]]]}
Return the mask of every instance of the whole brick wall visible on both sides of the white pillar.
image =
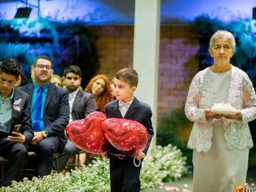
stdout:
{"type": "MultiPolygon", "coordinates": [[[[98,74],[109,78],[124,67],[132,68],[133,26],[90,26],[98,36],[98,74]]],[[[192,26],[162,26],[158,84],[158,115],[182,106],[198,71],[198,34],[192,26]]]]}

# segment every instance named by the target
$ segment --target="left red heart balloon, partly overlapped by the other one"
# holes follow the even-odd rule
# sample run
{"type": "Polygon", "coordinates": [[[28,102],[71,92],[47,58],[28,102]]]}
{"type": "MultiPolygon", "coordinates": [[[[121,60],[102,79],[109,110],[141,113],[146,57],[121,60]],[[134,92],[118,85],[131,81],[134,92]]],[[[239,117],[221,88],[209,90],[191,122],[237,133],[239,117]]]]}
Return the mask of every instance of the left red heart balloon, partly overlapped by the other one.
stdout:
{"type": "Polygon", "coordinates": [[[106,119],[102,112],[92,112],[86,118],[68,124],[66,135],[78,148],[102,154],[107,150],[107,140],[102,134],[102,123],[106,119]]]}

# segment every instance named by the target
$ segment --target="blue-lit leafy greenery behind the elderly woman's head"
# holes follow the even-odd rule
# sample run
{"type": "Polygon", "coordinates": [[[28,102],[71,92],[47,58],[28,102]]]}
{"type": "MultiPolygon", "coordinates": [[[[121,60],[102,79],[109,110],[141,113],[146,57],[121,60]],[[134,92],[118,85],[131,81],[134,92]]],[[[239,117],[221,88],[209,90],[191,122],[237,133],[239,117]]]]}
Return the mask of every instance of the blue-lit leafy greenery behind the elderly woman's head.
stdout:
{"type": "Polygon", "coordinates": [[[208,15],[203,14],[196,18],[195,26],[200,40],[200,70],[213,64],[213,60],[208,54],[211,36],[217,30],[228,30],[234,35],[236,40],[236,51],[230,62],[248,74],[255,88],[256,21],[253,19],[238,19],[224,23],[217,19],[210,19],[208,15]]]}

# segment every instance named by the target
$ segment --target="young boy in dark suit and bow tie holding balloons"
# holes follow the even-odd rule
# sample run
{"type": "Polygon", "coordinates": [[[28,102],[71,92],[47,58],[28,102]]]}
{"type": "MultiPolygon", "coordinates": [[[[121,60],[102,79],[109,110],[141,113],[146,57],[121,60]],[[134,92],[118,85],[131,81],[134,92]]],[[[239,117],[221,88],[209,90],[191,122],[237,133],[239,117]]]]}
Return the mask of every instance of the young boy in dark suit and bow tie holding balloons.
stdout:
{"type": "MultiPolygon", "coordinates": [[[[148,147],[154,135],[150,106],[138,101],[134,96],[138,85],[138,74],[131,68],[119,70],[114,75],[114,94],[116,100],[105,106],[106,116],[108,118],[125,118],[135,120],[143,124],[148,130],[148,144],[146,148],[136,156],[138,160],[143,160],[147,154],[148,147]]],[[[122,152],[109,144],[112,154],[121,154],[122,152]]],[[[109,154],[110,158],[110,188],[111,192],[138,192],[140,190],[140,166],[134,165],[134,157],[125,156],[123,159],[109,154]]],[[[104,153],[104,156],[107,156],[104,153]]]]}

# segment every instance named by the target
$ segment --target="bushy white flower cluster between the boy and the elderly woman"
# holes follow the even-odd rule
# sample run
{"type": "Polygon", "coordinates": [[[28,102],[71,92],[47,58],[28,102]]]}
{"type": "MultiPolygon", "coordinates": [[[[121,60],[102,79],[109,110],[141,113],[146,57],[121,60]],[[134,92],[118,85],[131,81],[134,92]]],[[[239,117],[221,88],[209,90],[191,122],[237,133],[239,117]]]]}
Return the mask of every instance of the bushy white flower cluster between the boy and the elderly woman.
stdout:
{"type": "Polygon", "coordinates": [[[155,146],[142,163],[140,181],[142,190],[152,189],[163,182],[177,180],[188,174],[186,157],[177,147],[155,146]]]}

